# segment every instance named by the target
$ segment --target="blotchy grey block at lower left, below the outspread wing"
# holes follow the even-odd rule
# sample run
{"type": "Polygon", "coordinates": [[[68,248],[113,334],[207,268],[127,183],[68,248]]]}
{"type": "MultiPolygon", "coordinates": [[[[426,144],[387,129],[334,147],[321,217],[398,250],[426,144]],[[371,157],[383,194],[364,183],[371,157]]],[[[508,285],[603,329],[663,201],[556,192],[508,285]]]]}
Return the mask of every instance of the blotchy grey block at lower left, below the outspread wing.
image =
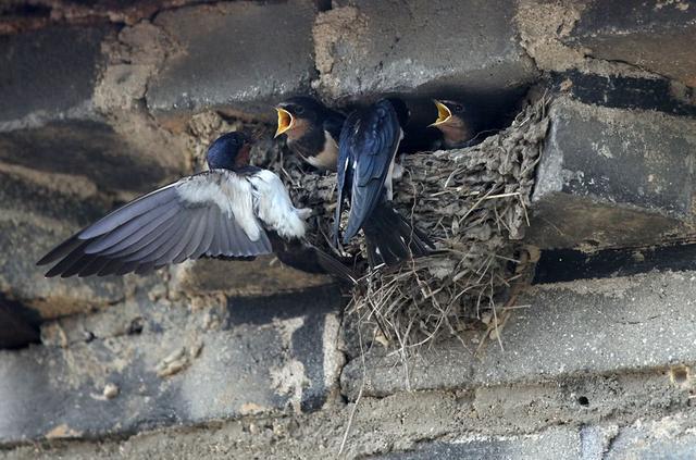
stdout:
{"type": "Polygon", "coordinates": [[[189,313],[138,297],[129,333],[0,351],[0,444],[316,409],[343,363],[336,299],[314,289],[189,313]]]}

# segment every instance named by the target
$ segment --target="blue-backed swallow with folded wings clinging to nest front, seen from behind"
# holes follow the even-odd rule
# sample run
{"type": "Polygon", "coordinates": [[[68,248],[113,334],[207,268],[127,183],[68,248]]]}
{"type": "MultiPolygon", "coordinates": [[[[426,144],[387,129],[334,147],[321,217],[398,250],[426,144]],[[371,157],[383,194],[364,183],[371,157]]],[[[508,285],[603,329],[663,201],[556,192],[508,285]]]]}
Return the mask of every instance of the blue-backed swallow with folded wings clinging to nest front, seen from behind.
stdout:
{"type": "Polygon", "coordinates": [[[340,133],[335,243],[338,243],[346,197],[350,212],[343,243],[348,244],[362,228],[372,266],[394,265],[411,257],[424,256],[428,252],[427,247],[433,247],[390,202],[394,160],[407,120],[408,109],[401,100],[382,99],[351,113],[340,133]]]}

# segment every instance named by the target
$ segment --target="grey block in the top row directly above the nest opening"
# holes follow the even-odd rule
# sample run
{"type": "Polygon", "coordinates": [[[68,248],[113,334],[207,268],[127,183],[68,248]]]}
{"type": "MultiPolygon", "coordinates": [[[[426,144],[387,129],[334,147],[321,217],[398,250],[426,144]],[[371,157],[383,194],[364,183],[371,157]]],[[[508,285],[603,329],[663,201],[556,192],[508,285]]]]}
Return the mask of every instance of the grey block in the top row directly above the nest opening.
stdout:
{"type": "Polygon", "coordinates": [[[328,99],[474,92],[500,103],[537,75],[515,38],[513,1],[334,3],[314,25],[318,89],[328,99]]]}

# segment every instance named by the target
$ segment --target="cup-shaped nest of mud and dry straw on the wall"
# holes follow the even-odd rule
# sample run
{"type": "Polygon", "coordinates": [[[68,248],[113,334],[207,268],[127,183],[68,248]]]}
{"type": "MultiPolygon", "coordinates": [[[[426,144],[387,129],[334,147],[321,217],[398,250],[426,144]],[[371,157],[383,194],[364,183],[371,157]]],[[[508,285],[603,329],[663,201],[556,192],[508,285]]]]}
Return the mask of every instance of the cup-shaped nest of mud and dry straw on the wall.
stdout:
{"type": "MultiPolygon", "coordinates": [[[[408,348],[495,315],[519,276],[519,240],[529,225],[547,107],[546,98],[527,105],[510,127],[474,147],[405,156],[395,202],[437,250],[397,269],[368,271],[352,291],[352,318],[374,323],[383,340],[408,348]]],[[[313,243],[328,249],[335,175],[282,174],[296,204],[316,213],[313,243]]],[[[364,257],[362,246],[344,250],[356,260],[364,257]]]]}

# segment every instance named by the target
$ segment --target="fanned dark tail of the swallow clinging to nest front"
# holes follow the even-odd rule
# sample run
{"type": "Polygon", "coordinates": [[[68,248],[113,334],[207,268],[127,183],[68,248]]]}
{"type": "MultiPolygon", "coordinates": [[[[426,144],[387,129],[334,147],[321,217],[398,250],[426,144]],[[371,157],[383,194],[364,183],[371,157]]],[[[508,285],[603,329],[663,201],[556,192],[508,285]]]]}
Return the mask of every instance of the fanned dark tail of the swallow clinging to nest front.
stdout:
{"type": "Polygon", "coordinates": [[[389,202],[380,203],[363,226],[370,265],[396,265],[411,258],[427,256],[434,249],[427,236],[411,226],[389,202]]]}

